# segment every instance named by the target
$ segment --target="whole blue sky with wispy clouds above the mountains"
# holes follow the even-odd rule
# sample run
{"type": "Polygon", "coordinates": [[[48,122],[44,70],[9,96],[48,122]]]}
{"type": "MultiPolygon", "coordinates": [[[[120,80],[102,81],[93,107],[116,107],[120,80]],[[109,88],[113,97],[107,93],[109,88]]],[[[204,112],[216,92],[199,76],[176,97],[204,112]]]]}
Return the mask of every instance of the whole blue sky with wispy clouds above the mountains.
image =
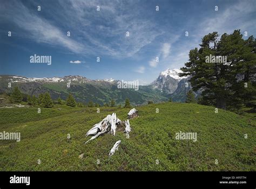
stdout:
{"type": "Polygon", "coordinates": [[[241,29],[256,36],[254,0],[4,0],[0,13],[1,75],[80,75],[148,84],[159,72],[183,66],[210,32],[241,29]],[[31,64],[34,54],[52,56],[52,64],[31,64]]]}

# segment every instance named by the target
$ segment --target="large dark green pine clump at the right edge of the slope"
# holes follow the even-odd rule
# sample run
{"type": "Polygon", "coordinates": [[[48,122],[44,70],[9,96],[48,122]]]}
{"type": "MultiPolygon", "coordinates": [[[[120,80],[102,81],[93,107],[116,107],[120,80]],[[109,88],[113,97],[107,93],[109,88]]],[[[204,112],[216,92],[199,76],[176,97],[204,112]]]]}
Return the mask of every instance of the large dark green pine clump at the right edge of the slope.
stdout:
{"type": "Polygon", "coordinates": [[[217,32],[204,36],[201,48],[190,51],[180,76],[191,76],[193,91],[201,90],[200,103],[221,109],[241,109],[255,100],[256,41],[243,39],[240,30],[231,35],[217,32]],[[214,59],[209,59],[209,57],[214,59]],[[225,57],[218,61],[218,57],[225,57]],[[209,61],[211,60],[211,61],[209,61]],[[247,87],[245,87],[245,84],[247,87]],[[253,95],[254,94],[254,95],[253,95]]]}

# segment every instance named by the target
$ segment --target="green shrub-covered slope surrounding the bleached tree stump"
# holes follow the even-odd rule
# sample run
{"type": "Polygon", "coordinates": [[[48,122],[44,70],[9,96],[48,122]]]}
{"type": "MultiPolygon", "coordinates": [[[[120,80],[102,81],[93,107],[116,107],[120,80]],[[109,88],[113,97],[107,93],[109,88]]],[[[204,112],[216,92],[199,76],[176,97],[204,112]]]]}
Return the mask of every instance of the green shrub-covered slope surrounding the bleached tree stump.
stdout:
{"type": "Polygon", "coordinates": [[[115,137],[105,134],[86,145],[85,133],[94,124],[112,112],[124,120],[129,109],[102,107],[100,113],[96,108],[43,109],[48,113],[32,122],[29,115],[36,109],[1,109],[0,132],[21,132],[22,140],[0,141],[0,171],[256,171],[252,117],[223,110],[214,113],[214,107],[197,104],[163,103],[137,109],[139,117],[130,120],[130,139],[117,132],[115,137]],[[176,140],[179,131],[197,132],[197,142],[176,140]],[[119,151],[109,158],[119,139],[119,151]],[[80,153],[83,159],[78,158],[80,153]]]}

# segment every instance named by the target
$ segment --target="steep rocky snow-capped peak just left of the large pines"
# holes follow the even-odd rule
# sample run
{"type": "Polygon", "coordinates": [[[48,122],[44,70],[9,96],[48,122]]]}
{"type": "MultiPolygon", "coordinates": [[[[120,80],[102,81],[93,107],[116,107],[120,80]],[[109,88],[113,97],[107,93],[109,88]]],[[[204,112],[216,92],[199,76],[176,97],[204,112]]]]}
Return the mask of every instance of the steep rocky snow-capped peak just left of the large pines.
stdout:
{"type": "Polygon", "coordinates": [[[180,77],[179,73],[182,73],[179,69],[167,69],[165,71],[160,72],[158,78],[154,80],[151,85],[161,92],[165,92],[167,94],[171,94],[177,90],[178,84],[182,79],[186,79],[187,77],[180,77]]]}

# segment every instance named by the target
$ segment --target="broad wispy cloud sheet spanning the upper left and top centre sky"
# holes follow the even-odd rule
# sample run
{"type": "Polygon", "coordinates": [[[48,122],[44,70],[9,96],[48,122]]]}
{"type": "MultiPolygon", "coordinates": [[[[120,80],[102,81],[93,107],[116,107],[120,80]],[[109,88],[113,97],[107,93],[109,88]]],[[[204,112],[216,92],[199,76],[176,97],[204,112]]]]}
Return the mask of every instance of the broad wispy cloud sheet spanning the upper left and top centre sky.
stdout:
{"type": "Polygon", "coordinates": [[[55,11],[43,8],[41,12],[31,11],[17,1],[3,3],[0,9],[5,19],[25,31],[22,37],[84,56],[133,57],[164,33],[156,29],[156,23],[139,16],[133,3],[81,0],[56,3],[59,9],[55,11]],[[98,5],[100,11],[96,10],[98,5]],[[51,20],[45,18],[48,13],[51,20]],[[68,37],[66,32],[70,30],[68,37]],[[130,32],[129,37],[125,36],[126,31],[130,32]]]}

